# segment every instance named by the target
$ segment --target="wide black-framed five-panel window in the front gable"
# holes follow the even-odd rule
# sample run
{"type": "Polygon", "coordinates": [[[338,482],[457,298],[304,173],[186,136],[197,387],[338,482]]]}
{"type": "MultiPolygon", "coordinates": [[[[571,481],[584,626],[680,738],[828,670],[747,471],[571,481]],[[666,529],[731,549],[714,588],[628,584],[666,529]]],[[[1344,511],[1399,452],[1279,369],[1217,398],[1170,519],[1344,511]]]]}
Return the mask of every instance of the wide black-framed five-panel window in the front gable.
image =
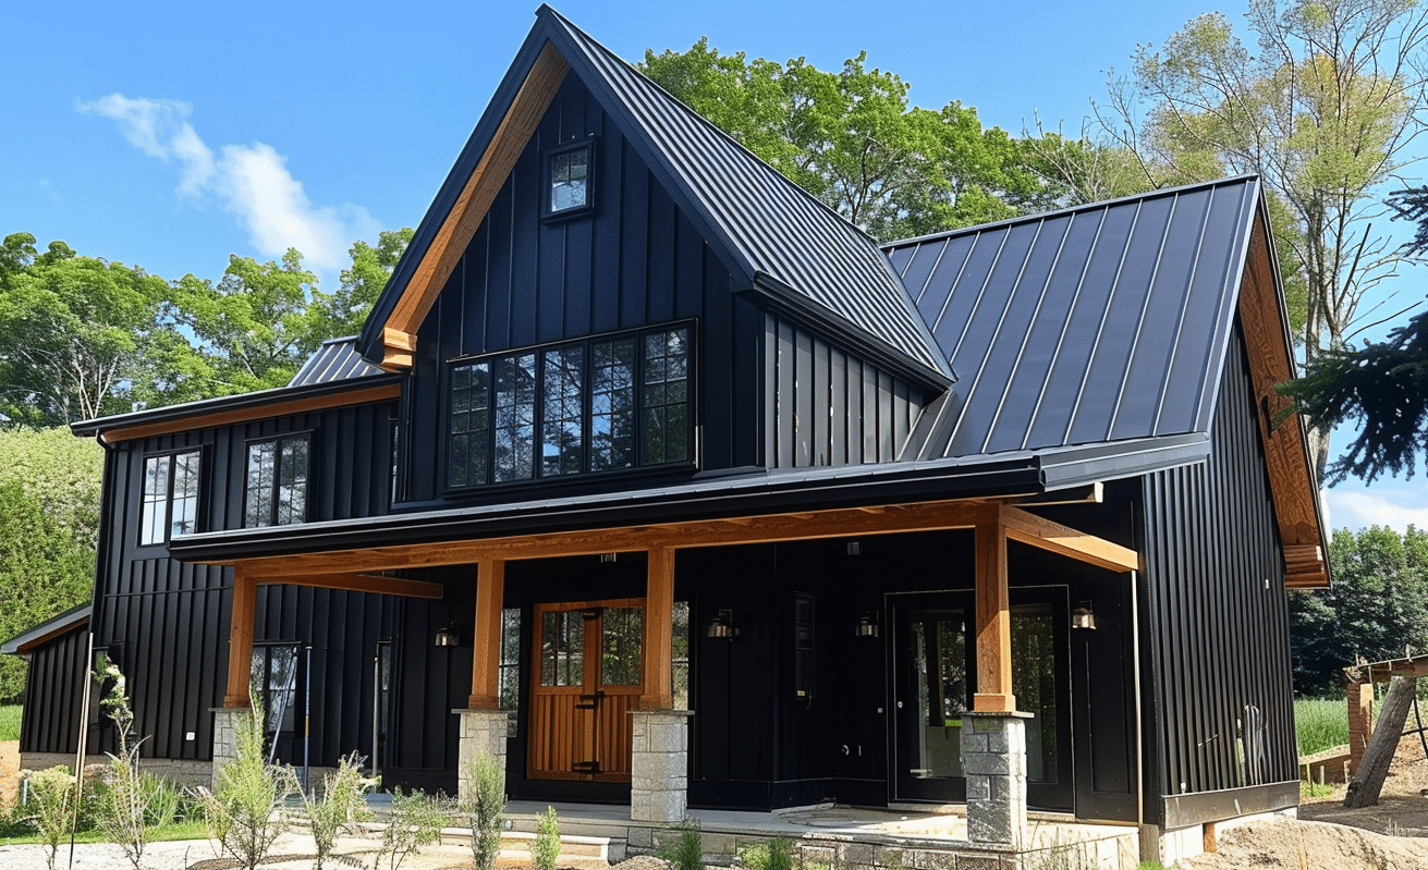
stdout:
{"type": "Polygon", "coordinates": [[[451,367],[451,487],[691,459],[690,326],[451,367]]]}

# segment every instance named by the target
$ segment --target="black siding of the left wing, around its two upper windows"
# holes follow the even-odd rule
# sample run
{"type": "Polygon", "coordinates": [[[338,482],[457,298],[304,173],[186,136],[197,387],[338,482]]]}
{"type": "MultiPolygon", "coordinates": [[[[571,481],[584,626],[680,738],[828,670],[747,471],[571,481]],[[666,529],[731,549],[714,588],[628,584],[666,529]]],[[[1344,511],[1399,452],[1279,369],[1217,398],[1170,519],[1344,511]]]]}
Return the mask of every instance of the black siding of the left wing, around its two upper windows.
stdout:
{"type": "MultiPolygon", "coordinates": [[[[100,564],[91,626],[96,649],[106,650],[126,673],[137,733],[149,740],[146,754],[211,757],[210,709],[221,703],[227,679],[233,579],[221,567],[178,563],[163,546],[139,546],[144,459],[201,450],[201,527],[241,529],[247,443],[310,433],[310,519],[383,514],[390,507],[387,457],[396,410],[391,401],[337,407],[123,441],[110,449],[104,487],[109,521],[101,544],[110,556],[100,564]]],[[[370,710],[370,667],[343,667],[340,661],[371,660],[376,643],[394,631],[393,607],[384,596],[260,589],[254,641],[314,649],[314,763],[331,764],[337,754],[353,749],[370,751],[370,727],[337,721],[336,716],[324,719],[323,710],[353,709],[358,699],[370,710]],[[327,679],[328,671],[340,679],[327,679]]],[[[113,749],[109,731],[100,749],[113,749]]]]}

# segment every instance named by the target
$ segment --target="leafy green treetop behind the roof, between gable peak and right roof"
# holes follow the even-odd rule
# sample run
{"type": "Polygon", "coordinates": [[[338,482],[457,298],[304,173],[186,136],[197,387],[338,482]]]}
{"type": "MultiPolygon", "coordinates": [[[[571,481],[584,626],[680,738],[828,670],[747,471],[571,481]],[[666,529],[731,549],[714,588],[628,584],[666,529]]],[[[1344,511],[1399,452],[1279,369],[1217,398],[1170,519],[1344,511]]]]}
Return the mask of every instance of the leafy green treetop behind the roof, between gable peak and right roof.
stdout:
{"type": "Polygon", "coordinates": [[[1015,140],[984,130],[977,110],[910,107],[908,84],[865,67],[837,73],[720,54],[645,51],[655,83],[830,209],[881,239],[1012,217],[1038,191],[1015,140]]]}

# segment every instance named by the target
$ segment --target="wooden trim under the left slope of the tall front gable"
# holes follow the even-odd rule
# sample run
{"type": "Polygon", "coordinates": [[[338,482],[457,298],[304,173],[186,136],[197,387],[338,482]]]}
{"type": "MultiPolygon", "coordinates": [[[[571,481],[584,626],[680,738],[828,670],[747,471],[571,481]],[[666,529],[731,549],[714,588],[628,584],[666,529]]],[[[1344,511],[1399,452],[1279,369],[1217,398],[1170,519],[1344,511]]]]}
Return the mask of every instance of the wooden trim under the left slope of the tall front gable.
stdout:
{"type": "Polygon", "coordinates": [[[417,263],[411,280],[407,281],[401,297],[387,317],[383,329],[383,341],[386,346],[381,363],[383,369],[411,366],[411,359],[407,354],[414,350],[414,341],[411,347],[401,347],[400,344],[388,343],[388,334],[414,336],[417,333],[427,311],[431,310],[437,296],[446,286],[447,279],[451,277],[456,264],[466,254],[466,247],[471,243],[471,237],[476,236],[476,230],[486,220],[486,213],[490,210],[491,203],[496,201],[496,196],[506,184],[506,179],[516,167],[516,161],[540,126],[541,117],[550,109],[550,103],[565,81],[565,73],[568,71],[570,64],[565,59],[560,56],[560,51],[554,46],[545,43],[540,56],[536,57],[536,63],[531,64],[531,71],[526,76],[526,81],[521,83],[520,90],[516,93],[516,99],[511,100],[511,107],[506,111],[500,126],[491,136],[491,141],[486,147],[486,153],[481,154],[480,163],[471,171],[466,187],[461,189],[461,194],[457,197],[451,211],[441,221],[436,239],[431,240],[431,246],[427,247],[421,261],[417,263]]]}

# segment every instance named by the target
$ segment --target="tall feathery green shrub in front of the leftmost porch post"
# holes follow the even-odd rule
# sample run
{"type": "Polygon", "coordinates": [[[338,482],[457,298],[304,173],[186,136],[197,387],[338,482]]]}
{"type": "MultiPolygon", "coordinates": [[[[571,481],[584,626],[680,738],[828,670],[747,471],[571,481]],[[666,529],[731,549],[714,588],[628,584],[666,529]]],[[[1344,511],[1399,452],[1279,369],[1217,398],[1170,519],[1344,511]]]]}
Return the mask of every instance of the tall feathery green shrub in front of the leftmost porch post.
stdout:
{"type": "Polygon", "coordinates": [[[253,870],[287,827],[278,809],[297,791],[297,779],[290,769],[268,764],[257,699],[238,717],[234,743],[234,756],[218,769],[214,790],[200,789],[198,796],[208,833],[223,851],[253,870]]]}

